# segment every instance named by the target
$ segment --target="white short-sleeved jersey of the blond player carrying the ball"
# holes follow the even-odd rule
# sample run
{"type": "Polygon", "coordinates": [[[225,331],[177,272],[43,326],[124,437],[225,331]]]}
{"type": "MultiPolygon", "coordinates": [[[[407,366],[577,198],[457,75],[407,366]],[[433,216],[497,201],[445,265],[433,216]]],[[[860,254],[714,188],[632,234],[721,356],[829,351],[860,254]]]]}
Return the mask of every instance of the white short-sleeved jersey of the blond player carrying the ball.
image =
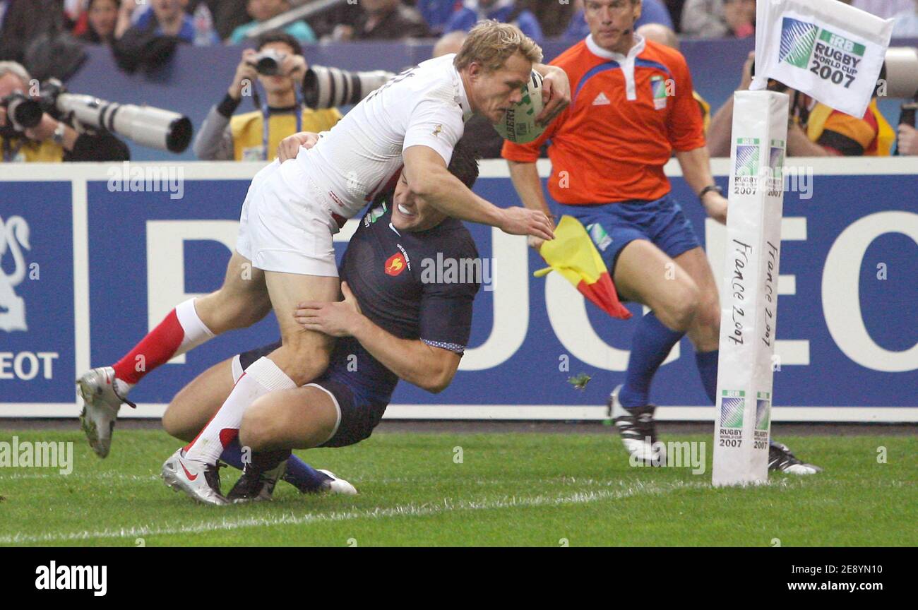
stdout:
{"type": "Polygon", "coordinates": [[[350,218],[363,210],[401,169],[410,146],[429,146],[449,165],[472,116],[453,57],[402,72],[297,156],[332,212],[350,218]]]}

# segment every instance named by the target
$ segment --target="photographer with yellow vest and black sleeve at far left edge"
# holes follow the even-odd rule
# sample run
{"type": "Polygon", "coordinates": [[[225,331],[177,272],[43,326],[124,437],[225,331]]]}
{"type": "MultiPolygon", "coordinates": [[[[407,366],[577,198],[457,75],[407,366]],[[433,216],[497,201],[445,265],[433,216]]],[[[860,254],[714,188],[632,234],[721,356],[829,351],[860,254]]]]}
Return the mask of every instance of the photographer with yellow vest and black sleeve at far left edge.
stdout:
{"type": "Polygon", "coordinates": [[[128,161],[128,147],[106,131],[78,132],[28,95],[21,64],[0,61],[0,147],[3,162],[128,161]],[[24,124],[25,123],[25,124],[24,124]]]}

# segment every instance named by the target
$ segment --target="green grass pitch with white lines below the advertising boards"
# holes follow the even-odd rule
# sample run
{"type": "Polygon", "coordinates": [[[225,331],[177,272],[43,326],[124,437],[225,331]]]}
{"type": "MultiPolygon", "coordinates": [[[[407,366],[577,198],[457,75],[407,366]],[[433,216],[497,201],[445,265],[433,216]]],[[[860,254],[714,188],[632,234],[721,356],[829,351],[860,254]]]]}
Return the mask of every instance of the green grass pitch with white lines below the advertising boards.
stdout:
{"type": "MultiPolygon", "coordinates": [[[[918,438],[781,438],[825,471],[714,489],[710,436],[665,438],[706,443],[705,471],[692,474],[633,468],[611,435],[380,433],[297,452],[357,496],[281,482],[272,503],[212,507],[159,479],[178,446],[164,432],[116,430],[98,460],[80,432],[0,431],[0,442],[73,441],[69,475],[0,468],[0,545],[918,545],[907,525],[918,521],[918,438]]],[[[221,473],[229,490],[238,473],[221,473]]]]}

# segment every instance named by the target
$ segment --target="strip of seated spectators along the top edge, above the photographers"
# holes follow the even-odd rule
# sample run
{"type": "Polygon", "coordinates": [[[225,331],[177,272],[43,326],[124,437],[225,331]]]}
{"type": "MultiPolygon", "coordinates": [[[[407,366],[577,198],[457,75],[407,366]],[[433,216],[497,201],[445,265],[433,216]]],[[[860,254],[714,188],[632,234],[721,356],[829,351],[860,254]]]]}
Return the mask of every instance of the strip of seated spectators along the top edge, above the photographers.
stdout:
{"type": "MultiPolygon", "coordinates": [[[[12,36],[14,43],[27,41],[29,30],[40,30],[59,15],[73,36],[93,44],[111,43],[130,28],[154,28],[188,44],[238,44],[252,28],[317,1],[0,0],[0,24],[6,24],[4,34],[12,36]]],[[[895,18],[897,36],[918,36],[914,0],[842,1],[879,17],[895,18]]],[[[516,24],[536,40],[581,39],[586,32],[583,5],[584,0],[359,0],[296,20],[284,31],[301,43],[423,39],[467,31],[479,19],[497,19],[516,24]]],[[[665,25],[682,37],[746,38],[756,31],[756,0],[643,0],[640,25],[646,23],[665,25]]]]}

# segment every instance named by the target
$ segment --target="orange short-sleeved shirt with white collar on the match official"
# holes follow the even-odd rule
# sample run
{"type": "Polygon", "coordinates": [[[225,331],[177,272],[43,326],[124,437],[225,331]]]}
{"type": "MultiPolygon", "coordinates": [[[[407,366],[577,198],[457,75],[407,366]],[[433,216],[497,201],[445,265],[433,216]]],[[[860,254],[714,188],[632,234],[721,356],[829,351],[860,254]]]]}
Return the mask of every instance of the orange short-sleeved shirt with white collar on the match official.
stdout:
{"type": "Polygon", "coordinates": [[[534,162],[546,140],[548,192],[562,204],[590,205],[669,193],[663,166],[673,150],[705,144],[689,66],[677,50],[635,36],[627,56],[592,37],[552,61],[567,73],[571,104],[529,144],[504,142],[509,161],[534,162]]]}

